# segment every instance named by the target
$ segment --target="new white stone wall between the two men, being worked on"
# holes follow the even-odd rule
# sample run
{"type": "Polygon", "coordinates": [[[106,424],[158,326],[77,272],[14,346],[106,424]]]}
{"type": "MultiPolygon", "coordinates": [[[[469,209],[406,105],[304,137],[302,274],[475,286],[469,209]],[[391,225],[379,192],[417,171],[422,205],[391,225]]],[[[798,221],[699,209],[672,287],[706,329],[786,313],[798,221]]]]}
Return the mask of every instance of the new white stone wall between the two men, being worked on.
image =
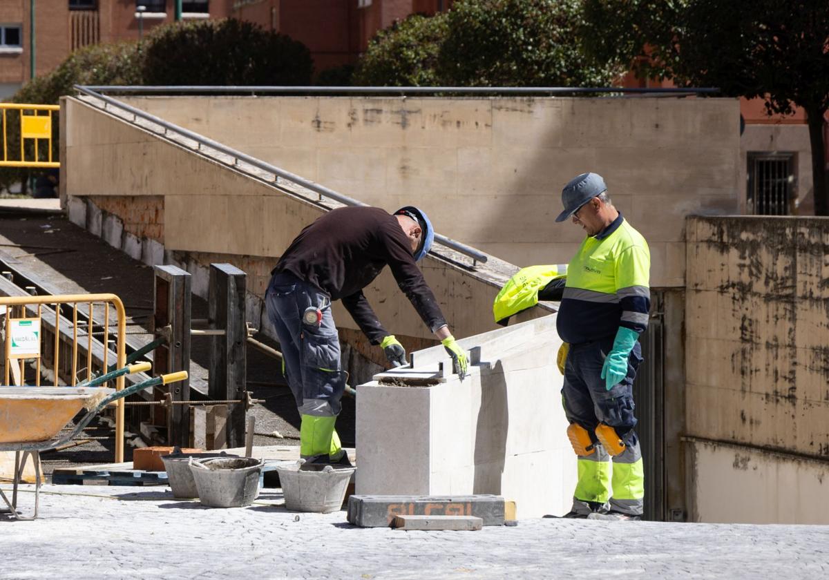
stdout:
{"type": "MultiPolygon", "coordinates": [[[[414,369],[357,387],[356,493],[495,494],[520,518],[570,510],[576,457],[561,407],[555,315],[470,336],[463,381],[444,372],[430,387],[395,386],[451,369],[442,346],[414,353],[414,369]]],[[[379,379],[379,380],[378,380],[379,379]]]]}

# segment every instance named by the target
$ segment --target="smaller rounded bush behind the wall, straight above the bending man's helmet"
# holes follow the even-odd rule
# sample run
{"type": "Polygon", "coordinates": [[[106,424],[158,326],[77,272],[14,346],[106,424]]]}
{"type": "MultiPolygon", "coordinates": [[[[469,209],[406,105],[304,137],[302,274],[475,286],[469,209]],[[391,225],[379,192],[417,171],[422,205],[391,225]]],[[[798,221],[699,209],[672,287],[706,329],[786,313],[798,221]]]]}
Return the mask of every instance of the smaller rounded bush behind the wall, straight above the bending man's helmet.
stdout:
{"type": "Polygon", "coordinates": [[[414,14],[377,32],[351,82],[357,86],[435,86],[440,46],[447,34],[446,15],[414,14]]]}

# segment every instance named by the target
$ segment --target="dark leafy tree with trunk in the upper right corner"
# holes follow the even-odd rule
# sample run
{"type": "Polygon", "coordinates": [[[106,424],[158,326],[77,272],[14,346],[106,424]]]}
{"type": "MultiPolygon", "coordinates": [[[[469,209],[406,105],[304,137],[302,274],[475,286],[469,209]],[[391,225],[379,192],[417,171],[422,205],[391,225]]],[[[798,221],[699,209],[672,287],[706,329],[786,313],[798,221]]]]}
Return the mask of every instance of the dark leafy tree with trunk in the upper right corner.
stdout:
{"type": "Polygon", "coordinates": [[[829,109],[825,0],[585,0],[594,59],[633,65],[680,86],[762,97],[769,114],[807,114],[815,214],[829,215],[824,118],[829,109]]]}

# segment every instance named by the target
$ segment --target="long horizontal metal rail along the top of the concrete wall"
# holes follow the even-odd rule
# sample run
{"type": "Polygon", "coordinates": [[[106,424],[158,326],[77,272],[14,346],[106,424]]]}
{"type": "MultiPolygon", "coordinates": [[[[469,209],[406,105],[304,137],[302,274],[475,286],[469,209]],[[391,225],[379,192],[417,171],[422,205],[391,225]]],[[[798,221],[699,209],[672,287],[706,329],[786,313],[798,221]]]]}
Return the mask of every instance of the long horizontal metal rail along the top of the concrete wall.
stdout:
{"type": "Polygon", "coordinates": [[[716,94],[716,87],[322,87],[322,86],[127,86],[86,85],[97,93],[316,93],[316,94],[716,94]]]}

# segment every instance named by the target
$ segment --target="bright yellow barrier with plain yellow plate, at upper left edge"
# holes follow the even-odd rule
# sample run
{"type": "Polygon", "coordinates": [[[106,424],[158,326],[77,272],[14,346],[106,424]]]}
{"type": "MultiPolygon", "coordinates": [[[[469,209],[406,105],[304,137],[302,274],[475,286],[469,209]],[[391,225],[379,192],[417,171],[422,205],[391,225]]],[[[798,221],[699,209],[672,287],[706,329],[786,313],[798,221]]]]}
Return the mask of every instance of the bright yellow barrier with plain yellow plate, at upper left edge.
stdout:
{"type": "MultiPolygon", "coordinates": [[[[52,121],[55,111],[61,110],[56,104],[16,104],[0,103],[2,111],[2,161],[0,167],[61,167],[60,162],[52,161],[52,121]],[[9,159],[8,121],[10,111],[17,111],[19,118],[20,158],[9,159]],[[34,140],[33,159],[26,157],[27,139],[34,140]],[[38,149],[42,141],[46,141],[46,160],[41,160],[38,149]]],[[[32,143],[30,141],[30,143],[32,143]]]]}

